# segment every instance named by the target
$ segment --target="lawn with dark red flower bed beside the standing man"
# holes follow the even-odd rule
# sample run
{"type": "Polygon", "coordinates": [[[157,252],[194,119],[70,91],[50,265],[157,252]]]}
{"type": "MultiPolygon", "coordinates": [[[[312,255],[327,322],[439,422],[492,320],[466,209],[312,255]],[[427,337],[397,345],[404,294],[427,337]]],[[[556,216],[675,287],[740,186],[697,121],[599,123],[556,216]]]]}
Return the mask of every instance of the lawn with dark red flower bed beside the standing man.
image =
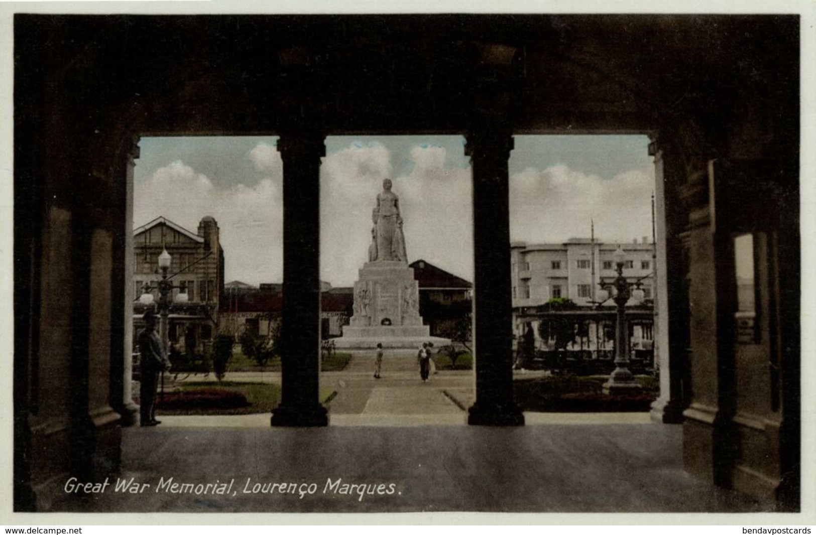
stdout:
{"type": "MultiPolygon", "coordinates": [[[[322,389],[321,403],[325,403],[333,395],[333,390],[322,389]]],[[[166,392],[165,399],[166,404],[172,404],[173,408],[162,407],[161,396],[156,396],[156,409],[160,414],[171,416],[271,413],[280,403],[281,387],[265,382],[184,382],[180,391],[166,392]],[[223,406],[218,406],[219,392],[223,406]],[[237,403],[234,393],[243,396],[246,402],[237,403]],[[205,396],[209,398],[206,401],[210,404],[208,406],[202,404],[205,396]]]]}

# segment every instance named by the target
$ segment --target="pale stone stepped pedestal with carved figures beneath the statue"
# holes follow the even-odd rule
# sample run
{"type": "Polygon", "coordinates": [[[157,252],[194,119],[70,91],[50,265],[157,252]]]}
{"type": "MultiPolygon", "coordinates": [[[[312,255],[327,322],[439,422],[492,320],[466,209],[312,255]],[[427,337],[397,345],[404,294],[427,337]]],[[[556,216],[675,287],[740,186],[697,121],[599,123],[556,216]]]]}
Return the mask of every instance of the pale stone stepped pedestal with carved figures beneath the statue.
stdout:
{"type": "Polygon", "coordinates": [[[447,345],[430,335],[419,316],[419,283],[414,270],[398,260],[366,263],[354,283],[354,315],[343,328],[339,348],[418,347],[424,342],[447,345]]]}

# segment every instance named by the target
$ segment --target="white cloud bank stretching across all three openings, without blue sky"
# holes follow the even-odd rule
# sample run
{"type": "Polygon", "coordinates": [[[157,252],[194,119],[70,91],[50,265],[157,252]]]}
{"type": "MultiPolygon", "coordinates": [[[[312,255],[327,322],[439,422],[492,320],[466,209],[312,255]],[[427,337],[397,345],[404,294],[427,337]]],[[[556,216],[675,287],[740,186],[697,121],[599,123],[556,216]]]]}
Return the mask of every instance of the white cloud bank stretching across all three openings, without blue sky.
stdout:
{"type": "MultiPolygon", "coordinates": [[[[472,281],[471,170],[460,167],[459,158],[449,159],[441,147],[416,146],[409,156],[414,166],[400,176],[393,176],[392,153],[383,144],[350,144],[323,159],[323,280],[333,285],[357,280],[357,270],[367,260],[371,210],[383,179],[390,178],[400,197],[409,261],[425,259],[472,281]]],[[[195,232],[202,217],[212,215],[221,229],[228,280],[282,281],[280,153],[260,143],[246,157],[264,175],[257,183],[240,183],[240,177],[210,179],[182,161],[158,169],[135,184],[134,223],[164,215],[195,232]]],[[[650,236],[653,190],[654,173],[649,167],[612,179],[564,165],[528,168],[510,177],[511,239],[543,242],[588,237],[591,218],[600,240],[650,236]]]]}

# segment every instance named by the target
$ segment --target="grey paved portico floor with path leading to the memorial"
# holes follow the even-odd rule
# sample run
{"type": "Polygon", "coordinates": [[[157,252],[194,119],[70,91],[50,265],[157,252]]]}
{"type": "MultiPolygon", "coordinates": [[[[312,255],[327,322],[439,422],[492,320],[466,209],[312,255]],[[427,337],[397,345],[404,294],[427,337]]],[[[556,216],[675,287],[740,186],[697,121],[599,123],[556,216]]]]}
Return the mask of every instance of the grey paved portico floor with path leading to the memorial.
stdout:
{"type": "Polygon", "coordinates": [[[388,359],[375,379],[364,355],[322,374],[338,392],[329,427],[271,427],[269,414],[251,414],[125,428],[111,488],[132,480],[144,492],[60,494],[52,510],[151,513],[148,522],[166,512],[763,510],[683,471],[680,426],[645,413],[526,413],[524,427],[468,426],[472,373],[420,382],[415,366],[388,359]]]}

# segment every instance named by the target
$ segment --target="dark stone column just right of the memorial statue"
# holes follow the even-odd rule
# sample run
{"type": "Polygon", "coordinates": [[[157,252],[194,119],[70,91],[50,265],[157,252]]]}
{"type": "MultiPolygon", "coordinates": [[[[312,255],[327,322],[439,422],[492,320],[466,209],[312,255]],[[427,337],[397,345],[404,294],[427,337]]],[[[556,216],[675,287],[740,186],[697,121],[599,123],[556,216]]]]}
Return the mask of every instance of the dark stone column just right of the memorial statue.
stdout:
{"type": "Polygon", "coordinates": [[[521,426],[512,399],[512,295],[510,274],[509,130],[477,130],[466,153],[473,174],[474,350],[476,403],[468,423],[521,426]]]}

